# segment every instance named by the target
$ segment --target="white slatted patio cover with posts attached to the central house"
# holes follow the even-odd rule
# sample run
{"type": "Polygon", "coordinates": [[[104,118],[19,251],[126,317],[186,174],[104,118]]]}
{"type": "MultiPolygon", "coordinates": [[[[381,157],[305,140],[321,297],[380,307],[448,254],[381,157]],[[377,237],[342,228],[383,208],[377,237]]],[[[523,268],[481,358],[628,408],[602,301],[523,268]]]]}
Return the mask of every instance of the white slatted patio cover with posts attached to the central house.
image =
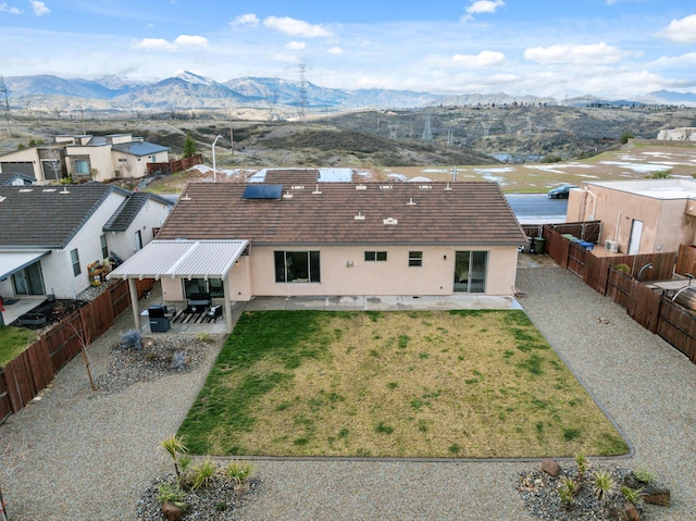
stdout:
{"type": "Polygon", "coordinates": [[[108,277],[128,281],[133,318],[138,330],[141,325],[135,287],[136,278],[221,280],[223,317],[227,333],[232,333],[229,274],[248,245],[248,240],[152,240],[113,270],[108,277]]]}

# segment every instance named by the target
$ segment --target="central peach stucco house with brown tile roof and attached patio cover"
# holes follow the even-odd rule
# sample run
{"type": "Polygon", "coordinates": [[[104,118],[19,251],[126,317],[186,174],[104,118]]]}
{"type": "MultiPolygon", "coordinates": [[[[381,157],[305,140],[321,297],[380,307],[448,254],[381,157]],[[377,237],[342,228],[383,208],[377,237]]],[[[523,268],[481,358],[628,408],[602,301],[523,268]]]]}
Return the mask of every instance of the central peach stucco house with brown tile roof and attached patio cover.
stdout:
{"type": "Polygon", "coordinates": [[[513,295],[526,237],[496,183],[289,181],[189,184],[113,276],[160,278],[165,301],[513,295]]]}

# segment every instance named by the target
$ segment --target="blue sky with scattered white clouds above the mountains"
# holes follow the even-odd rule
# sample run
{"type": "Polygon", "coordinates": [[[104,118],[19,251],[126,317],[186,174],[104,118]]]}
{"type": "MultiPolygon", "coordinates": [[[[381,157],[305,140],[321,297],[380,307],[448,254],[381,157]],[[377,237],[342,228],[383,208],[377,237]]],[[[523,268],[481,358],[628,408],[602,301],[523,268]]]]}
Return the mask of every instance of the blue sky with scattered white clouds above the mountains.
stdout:
{"type": "Polygon", "coordinates": [[[696,2],[0,0],[4,77],[299,80],[302,69],[346,89],[696,92],[696,2]]]}

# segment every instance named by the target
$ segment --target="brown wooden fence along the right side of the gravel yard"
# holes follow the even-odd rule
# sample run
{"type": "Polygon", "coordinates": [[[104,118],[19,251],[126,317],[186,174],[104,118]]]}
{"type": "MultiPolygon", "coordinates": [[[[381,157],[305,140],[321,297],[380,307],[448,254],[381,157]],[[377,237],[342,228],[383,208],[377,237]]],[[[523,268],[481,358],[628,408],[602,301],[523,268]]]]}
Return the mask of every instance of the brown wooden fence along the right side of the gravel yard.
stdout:
{"type": "Polygon", "coordinates": [[[678,252],[600,258],[552,226],[545,225],[540,236],[545,239],[544,251],[556,262],[696,363],[696,314],[644,284],[671,280],[673,273],[696,275],[696,247],[682,245],[678,252]],[[625,264],[629,273],[617,269],[619,264],[625,264]]]}

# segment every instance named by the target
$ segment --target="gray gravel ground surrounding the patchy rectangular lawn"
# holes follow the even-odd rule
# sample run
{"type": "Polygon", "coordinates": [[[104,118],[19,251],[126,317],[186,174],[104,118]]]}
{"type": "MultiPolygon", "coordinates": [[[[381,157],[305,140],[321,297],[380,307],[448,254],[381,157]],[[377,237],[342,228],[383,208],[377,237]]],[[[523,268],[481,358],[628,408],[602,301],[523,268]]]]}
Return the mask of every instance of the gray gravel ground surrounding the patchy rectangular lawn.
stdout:
{"type": "MultiPolygon", "coordinates": [[[[644,519],[696,519],[696,365],[625,312],[559,268],[520,269],[520,299],[537,327],[605,406],[642,464],[672,492],[672,507],[644,519]]],[[[132,317],[89,352],[98,382],[132,317]]],[[[158,343],[175,335],[157,334],[158,343]]],[[[191,340],[184,337],[184,343],[191,340]]],[[[138,499],[171,472],[159,443],[183,421],[223,336],[198,364],[122,389],[92,392],[82,357],[41,399],[0,426],[0,483],[13,521],[136,520],[138,499]],[[195,367],[194,367],[195,365],[195,367]]],[[[592,458],[591,458],[592,460],[592,458]]],[[[611,461],[607,461],[611,463],[611,461]]],[[[235,520],[533,520],[517,492],[536,461],[373,461],[261,459],[258,493],[235,520]]]]}

